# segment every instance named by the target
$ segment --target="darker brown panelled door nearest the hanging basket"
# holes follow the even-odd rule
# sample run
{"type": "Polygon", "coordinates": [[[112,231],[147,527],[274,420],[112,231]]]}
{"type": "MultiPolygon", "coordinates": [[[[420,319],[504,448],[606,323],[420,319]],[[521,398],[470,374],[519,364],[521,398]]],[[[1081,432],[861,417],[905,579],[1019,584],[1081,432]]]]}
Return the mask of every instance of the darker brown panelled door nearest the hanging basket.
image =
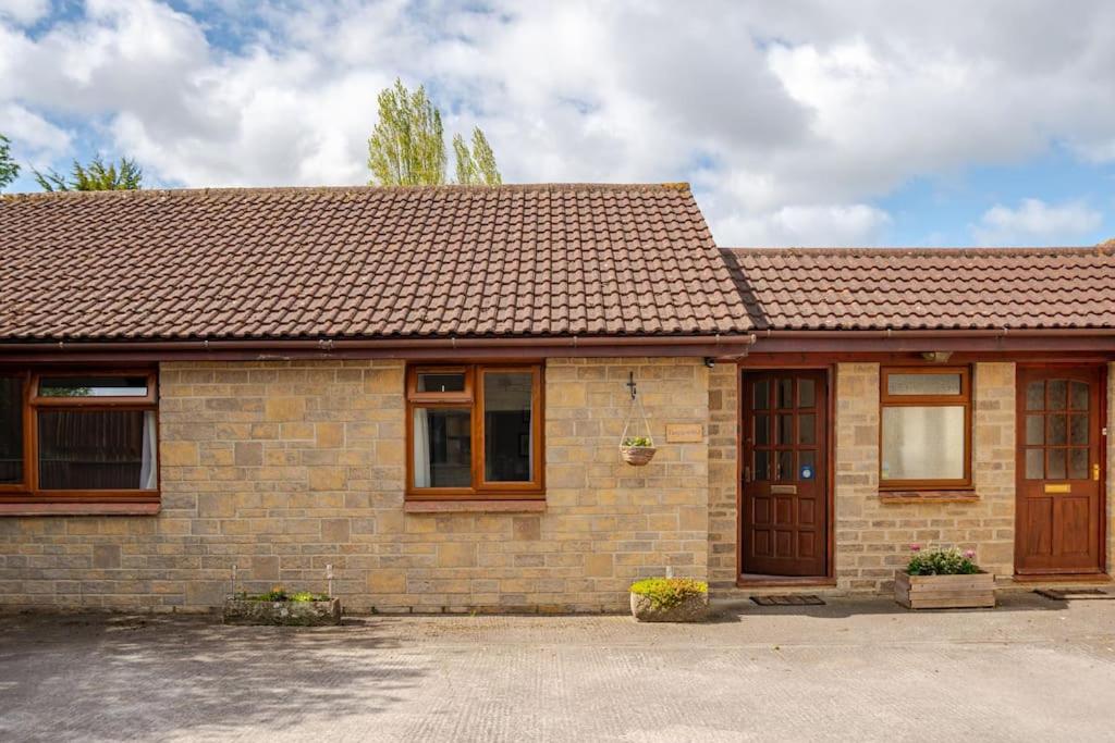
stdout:
{"type": "Polygon", "coordinates": [[[744,575],[826,575],[826,379],[818,370],[743,372],[744,575]]]}

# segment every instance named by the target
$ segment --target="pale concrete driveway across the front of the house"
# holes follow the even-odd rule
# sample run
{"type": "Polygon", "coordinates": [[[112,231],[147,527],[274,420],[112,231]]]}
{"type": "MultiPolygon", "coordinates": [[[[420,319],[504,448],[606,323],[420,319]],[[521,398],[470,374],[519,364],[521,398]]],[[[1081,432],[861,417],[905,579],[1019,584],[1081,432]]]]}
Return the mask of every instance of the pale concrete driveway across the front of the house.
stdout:
{"type": "Polygon", "coordinates": [[[0,618],[2,740],[1115,740],[1115,600],[225,627],[0,618]]]}

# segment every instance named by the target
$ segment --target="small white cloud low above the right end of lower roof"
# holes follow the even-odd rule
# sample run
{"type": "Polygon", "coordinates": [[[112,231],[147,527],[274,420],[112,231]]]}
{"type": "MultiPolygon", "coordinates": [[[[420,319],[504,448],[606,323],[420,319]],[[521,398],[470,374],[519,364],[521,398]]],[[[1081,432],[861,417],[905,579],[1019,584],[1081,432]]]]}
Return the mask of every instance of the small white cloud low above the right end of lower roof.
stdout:
{"type": "Polygon", "coordinates": [[[996,204],[985,212],[972,236],[980,245],[1065,245],[1102,223],[1099,212],[1079,202],[1049,205],[1026,198],[1018,208],[996,204]]]}

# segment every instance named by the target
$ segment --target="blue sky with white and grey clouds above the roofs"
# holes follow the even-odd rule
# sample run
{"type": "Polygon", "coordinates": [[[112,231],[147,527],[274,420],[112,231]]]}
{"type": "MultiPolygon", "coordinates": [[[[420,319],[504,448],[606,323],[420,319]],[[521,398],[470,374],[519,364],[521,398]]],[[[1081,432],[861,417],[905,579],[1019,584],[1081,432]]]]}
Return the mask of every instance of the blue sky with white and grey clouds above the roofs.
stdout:
{"type": "Polygon", "coordinates": [[[396,77],[505,182],[689,182],[725,246],[1115,236],[1108,0],[0,0],[8,190],[363,184],[396,77]]]}

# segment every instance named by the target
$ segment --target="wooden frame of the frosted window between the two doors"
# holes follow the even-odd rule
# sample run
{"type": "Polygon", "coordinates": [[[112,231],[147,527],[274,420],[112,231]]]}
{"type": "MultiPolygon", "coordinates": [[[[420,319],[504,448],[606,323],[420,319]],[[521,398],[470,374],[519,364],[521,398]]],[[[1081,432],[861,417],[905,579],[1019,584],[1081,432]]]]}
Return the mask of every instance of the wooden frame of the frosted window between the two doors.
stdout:
{"type": "Polygon", "coordinates": [[[881,366],[879,370],[879,489],[898,490],[972,490],[972,370],[953,366],[881,366]],[[960,374],[959,394],[891,394],[891,374],[960,374]],[[964,475],[959,479],[884,479],[883,478],[883,411],[886,408],[956,408],[964,411],[964,475]]]}

